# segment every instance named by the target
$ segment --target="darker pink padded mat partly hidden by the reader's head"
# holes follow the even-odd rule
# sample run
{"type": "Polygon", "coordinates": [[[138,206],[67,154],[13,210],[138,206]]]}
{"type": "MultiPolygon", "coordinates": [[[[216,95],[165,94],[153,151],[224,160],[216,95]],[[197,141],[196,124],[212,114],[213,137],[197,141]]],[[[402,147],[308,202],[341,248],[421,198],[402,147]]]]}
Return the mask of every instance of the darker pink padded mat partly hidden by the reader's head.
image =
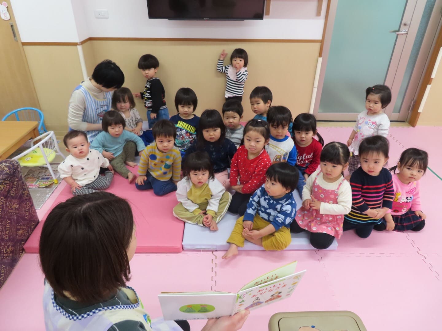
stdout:
{"type": "MultiPolygon", "coordinates": [[[[132,169],[133,173],[137,172],[137,168],[132,169]]],[[[181,252],[184,224],[172,214],[172,209],[177,203],[175,192],[171,192],[166,196],[155,196],[152,190],[139,191],[135,188],[135,184],[129,184],[126,179],[118,174],[115,174],[107,192],[127,199],[132,207],[137,227],[137,253],[181,252]],[[167,231],[164,231],[164,229],[167,229],[167,231]]],[[[49,211],[58,203],[70,197],[72,197],[72,193],[70,187],[66,185],[49,211]]],[[[43,222],[38,224],[24,245],[25,252],[38,252],[38,241],[43,222]]]]}

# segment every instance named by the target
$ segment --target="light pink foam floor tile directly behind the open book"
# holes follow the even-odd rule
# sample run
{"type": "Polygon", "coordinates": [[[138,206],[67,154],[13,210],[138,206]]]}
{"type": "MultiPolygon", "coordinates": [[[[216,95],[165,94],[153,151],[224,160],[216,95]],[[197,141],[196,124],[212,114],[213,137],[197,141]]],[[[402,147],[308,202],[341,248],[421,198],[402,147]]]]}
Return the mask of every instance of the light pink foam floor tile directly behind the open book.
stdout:
{"type": "MultiPolygon", "coordinates": [[[[331,252],[331,251],[330,251],[331,252]]],[[[270,317],[277,312],[336,310],[337,302],[327,282],[327,271],[315,251],[260,252],[240,251],[238,256],[222,260],[225,252],[215,252],[216,290],[236,293],[247,282],[297,260],[297,271],[307,270],[293,295],[252,310],[244,330],[267,330],[270,317]]],[[[335,253],[335,252],[333,252],[335,253]]]]}

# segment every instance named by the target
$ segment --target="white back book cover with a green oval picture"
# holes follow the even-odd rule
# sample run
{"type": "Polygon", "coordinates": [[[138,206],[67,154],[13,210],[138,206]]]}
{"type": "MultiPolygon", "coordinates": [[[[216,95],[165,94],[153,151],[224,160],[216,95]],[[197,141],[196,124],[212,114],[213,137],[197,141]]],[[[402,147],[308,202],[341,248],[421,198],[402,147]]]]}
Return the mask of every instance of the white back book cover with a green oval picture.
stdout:
{"type": "Polygon", "coordinates": [[[199,320],[232,315],[236,294],[228,292],[161,293],[164,320],[199,320]]]}

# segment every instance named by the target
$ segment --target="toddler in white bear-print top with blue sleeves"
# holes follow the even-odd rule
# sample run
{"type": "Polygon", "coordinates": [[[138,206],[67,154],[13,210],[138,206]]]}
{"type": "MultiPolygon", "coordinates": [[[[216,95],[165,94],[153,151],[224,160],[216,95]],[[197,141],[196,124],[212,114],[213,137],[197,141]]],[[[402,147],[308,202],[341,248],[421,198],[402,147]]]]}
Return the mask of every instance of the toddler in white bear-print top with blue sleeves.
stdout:
{"type": "Polygon", "coordinates": [[[292,113],[287,107],[272,106],[267,113],[267,123],[270,127],[270,140],[265,149],[271,162],[287,162],[294,166],[296,147],[293,139],[287,135],[289,124],[292,123],[292,113]]]}

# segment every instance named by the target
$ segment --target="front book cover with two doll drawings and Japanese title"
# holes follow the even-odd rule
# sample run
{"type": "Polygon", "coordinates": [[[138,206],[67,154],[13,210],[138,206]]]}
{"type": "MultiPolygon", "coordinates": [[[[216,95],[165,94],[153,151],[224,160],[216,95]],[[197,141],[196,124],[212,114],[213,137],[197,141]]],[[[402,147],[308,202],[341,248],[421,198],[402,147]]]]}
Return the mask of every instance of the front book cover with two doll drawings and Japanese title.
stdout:
{"type": "Polygon", "coordinates": [[[259,286],[241,290],[238,292],[233,314],[243,309],[263,307],[290,297],[304,274],[305,270],[293,275],[274,279],[271,282],[266,282],[259,286]]]}

